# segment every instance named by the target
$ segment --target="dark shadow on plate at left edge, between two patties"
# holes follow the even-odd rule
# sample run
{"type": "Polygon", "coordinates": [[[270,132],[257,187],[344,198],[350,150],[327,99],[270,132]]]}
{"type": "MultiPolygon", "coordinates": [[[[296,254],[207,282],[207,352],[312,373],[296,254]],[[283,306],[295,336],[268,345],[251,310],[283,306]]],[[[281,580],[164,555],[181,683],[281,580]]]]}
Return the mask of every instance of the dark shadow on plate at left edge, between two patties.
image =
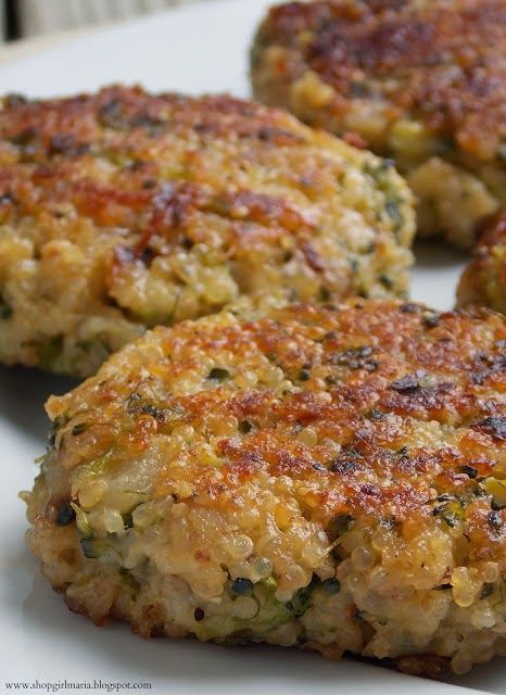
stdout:
{"type": "Polygon", "coordinates": [[[45,374],[38,369],[0,367],[0,420],[7,420],[25,434],[46,440],[49,425],[43,404],[52,393],[65,393],[77,381],[45,374]]]}

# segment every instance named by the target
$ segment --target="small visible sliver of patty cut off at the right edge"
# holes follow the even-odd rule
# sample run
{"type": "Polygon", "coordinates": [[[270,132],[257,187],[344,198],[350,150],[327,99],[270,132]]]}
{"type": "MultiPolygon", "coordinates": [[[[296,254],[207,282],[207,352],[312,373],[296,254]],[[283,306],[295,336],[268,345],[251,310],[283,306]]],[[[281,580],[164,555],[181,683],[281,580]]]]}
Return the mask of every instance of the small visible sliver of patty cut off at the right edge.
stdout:
{"type": "Polygon", "coordinates": [[[457,290],[458,306],[482,305],[506,314],[506,213],[483,226],[457,290]]]}

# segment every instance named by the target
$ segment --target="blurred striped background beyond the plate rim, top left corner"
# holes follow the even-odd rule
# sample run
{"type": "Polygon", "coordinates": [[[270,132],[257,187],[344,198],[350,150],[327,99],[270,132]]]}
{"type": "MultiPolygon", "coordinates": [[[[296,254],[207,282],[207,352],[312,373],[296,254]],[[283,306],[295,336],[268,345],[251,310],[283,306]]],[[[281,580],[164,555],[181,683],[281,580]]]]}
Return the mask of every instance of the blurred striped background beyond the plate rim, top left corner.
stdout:
{"type": "Polygon", "coordinates": [[[150,14],[200,0],[0,0],[0,43],[150,14]]]}

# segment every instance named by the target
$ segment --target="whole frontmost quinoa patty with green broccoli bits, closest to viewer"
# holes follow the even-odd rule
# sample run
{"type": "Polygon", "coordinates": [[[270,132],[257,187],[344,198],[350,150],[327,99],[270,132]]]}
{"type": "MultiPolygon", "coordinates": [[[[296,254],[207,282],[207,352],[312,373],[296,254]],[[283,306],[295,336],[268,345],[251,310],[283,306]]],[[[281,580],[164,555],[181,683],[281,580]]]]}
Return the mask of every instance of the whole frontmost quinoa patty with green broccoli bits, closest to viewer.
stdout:
{"type": "Polygon", "coordinates": [[[29,547],[98,624],[465,672],[506,650],[505,346],[380,300],[157,328],[49,400],[29,547]]]}

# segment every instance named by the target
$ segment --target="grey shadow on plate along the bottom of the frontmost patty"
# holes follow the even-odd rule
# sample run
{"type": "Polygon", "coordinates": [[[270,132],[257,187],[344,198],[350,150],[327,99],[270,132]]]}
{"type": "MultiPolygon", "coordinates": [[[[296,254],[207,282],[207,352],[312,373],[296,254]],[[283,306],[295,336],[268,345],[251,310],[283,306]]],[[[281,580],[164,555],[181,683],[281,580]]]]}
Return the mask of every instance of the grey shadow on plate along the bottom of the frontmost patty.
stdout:
{"type": "MultiPolygon", "coordinates": [[[[312,652],[266,645],[232,650],[193,640],[142,640],[118,621],[96,628],[84,617],[71,614],[62,597],[52,592],[40,576],[35,577],[31,592],[23,604],[23,623],[26,647],[31,655],[37,652],[41,665],[46,648],[58,654],[64,652],[74,668],[76,662],[85,668],[93,664],[98,677],[103,672],[107,678],[121,675],[122,680],[150,681],[154,692],[159,687],[164,692],[168,685],[177,684],[180,693],[210,686],[228,693],[244,684],[244,679],[249,687],[262,688],[260,692],[267,687],[270,693],[287,692],[293,681],[306,683],[307,692],[315,694],[333,692],[337,684],[340,692],[345,693],[356,692],[357,684],[379,692],[378,679],[381,693],[387,692],[383,691],[387,687],[392,694],[408,690],[423,692],[423,687],[419,690],[420,683],[425,683],[421,679],[414,682],[409,677],[355,660],[337,664],[312,652]],[[41,631],[48,646],[39,653],[37,635],[40,637],[41,631]],[[415,683],[418,687],[414,687],[415,683]]],[[[489,664],[470,677],[453,680],[453,685],[501,693],[503,681],[497,671],[499,669],[489,664]]],[[[428,692],[432,690],[429,687],[428,692]]]]}

